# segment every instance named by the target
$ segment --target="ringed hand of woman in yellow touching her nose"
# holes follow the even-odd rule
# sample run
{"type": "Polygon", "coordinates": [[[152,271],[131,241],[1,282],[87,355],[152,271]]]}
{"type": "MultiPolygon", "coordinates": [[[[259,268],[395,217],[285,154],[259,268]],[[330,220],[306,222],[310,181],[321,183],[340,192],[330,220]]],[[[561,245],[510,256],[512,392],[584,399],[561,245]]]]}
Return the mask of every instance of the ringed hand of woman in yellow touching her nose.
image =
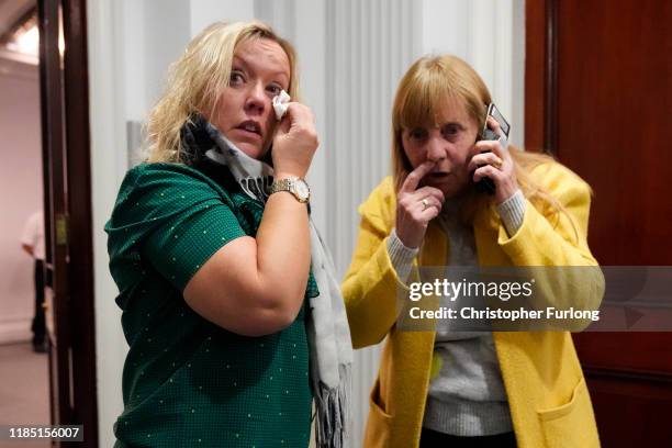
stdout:
{"type": "Polygon", "coordinates": [[[419,181],[434,168],[435,161],[425,161],[408,173],[396,195],[396,236],[404,246],[419,247],[429,221],[444,206],[444,192],[434,187],[417,188],[419,181]]]}

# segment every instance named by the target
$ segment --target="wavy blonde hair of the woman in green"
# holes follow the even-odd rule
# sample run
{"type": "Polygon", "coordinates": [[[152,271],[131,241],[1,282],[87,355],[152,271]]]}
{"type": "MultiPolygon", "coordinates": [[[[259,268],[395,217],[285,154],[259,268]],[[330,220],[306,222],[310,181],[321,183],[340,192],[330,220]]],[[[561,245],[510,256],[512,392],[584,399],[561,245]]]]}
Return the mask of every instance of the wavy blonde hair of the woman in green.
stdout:
{"type": "Polygon", "coordinates": [[[228,86],[236,49],[257,38],[282,47],[290,64],[288,93],[298,98],[296,55],[288,41],[262,22],[215,22],[189,43],[169,69],[166,90],[147,120],[147,161],[183,161],[180,130],[193,113],[212,114],[222,90],[228,86]]]}

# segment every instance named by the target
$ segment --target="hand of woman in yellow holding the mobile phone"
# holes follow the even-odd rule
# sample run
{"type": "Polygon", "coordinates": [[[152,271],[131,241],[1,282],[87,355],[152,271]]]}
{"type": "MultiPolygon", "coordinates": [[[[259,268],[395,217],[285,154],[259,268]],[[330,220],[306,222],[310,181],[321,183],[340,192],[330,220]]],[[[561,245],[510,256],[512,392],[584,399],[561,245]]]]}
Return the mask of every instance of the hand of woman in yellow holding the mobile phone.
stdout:
{"type": "MultiPolygon", "coordinates": [[[[500,124],[492,116],[488,125],[495,134],[502,135],[500,124]]],[[[495,201],[497,204],[506,201],[518,190],[513,157],[508,152],[506,141],[480,141],[473,147],[473,157],[469,163],[469,171],[473,171],[473,181],[490,178],[494,182],[495,201]],[[479,168],[480,166],[480,168],[479,168]]]]}

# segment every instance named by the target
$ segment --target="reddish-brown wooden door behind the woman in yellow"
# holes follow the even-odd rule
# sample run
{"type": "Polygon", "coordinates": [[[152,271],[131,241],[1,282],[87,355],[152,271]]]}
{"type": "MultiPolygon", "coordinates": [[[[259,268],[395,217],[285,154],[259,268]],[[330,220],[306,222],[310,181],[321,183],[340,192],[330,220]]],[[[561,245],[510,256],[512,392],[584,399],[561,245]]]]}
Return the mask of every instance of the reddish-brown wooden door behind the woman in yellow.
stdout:
{"type": "MultiPolygon", "coordinates": [[[[526,12],[526,146],[592,186],[601,265],[672,265],[672,2],[528,0],[526,12]]],[[[670,332],[575,335],[604,447],[672,447],[670,332]]]]}

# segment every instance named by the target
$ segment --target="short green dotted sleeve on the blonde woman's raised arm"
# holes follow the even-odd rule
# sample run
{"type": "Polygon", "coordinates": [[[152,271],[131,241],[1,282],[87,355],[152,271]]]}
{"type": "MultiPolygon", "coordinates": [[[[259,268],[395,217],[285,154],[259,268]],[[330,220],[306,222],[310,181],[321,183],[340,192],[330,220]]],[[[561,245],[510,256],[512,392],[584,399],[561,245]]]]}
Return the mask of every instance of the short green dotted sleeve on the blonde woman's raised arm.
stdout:
{"type": "Polygon", "coordinates": [[[144,264],[183,291],[214,253],[246,234],[231,198],[209,178],[186,168],[153,168],[124,194],[111,222],[135,238],[144,264]]]}

